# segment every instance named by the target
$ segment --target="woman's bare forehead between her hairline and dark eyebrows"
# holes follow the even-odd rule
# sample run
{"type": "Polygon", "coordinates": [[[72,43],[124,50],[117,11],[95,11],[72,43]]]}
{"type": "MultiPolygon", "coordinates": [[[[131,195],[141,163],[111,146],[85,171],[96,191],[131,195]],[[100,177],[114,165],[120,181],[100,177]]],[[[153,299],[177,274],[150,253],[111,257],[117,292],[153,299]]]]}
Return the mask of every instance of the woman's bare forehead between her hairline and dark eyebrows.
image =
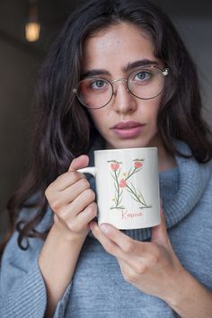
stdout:
{"type": "Polygon", "coordinates": [[[155,61],[154,44],[146,31],[121,22],[97,31],[84,43],[84,71],[93,68],[123,68],[135,60],[155,61]]]}

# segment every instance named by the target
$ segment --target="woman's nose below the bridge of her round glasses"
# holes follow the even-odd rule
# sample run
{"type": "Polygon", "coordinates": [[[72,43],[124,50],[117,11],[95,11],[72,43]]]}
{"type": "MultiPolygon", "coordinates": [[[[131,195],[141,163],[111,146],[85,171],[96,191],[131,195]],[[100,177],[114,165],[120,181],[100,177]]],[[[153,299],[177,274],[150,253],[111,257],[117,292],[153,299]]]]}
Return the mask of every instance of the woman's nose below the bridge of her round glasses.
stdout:
{"type": "Polygon", "coordinates": [[[134,98],[134,96],[128,91],[127,80],[125,78],[114,80],[112,82],[112,85],[113,109],[119,113],[128,113],[135,111],[137,109],[137,101],[136,98],[134,98]]]}

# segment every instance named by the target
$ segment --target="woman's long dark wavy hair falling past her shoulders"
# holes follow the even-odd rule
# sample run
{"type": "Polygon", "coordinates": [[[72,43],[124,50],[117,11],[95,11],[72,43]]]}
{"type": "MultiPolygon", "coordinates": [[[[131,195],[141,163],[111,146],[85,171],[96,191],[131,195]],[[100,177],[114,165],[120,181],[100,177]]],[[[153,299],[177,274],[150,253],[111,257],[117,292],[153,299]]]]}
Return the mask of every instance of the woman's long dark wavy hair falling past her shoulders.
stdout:
{"type": "Polygon", "coordinates": [[[154,43],[155,57],[170,68],[157,120],[167,151],[183,155],[177,153],[172,143],[173,138],[179,138],[190,146],[199,163],[212,158],[211,135],[201,117],[196,66],[167,15],[146,0],[88,1],[69,16],[40,70],[31,171],[8,202],[10,228],[2,252],[15,228],[22,249],[28,247],[22,244],[23,239],[47,235],[48,230],[36,230],[48,207],[44,192],[49,183],[67,171],[75,156],[88,151],[96,134],[88,113],[73,93],[81,77],[84,40],[120,22],[146,31],[154,43]],[[28,208],[29,219],[17,224],[22,208],[28,208]],[[30,217],[32,208],[37,213],[30,217]]]}

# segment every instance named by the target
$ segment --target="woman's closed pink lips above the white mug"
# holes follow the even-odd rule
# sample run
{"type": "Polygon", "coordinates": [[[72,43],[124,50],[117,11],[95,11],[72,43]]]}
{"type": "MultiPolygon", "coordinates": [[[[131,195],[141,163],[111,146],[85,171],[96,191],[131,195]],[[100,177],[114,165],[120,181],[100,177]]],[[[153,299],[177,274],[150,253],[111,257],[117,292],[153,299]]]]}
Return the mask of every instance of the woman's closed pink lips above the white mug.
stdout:
{"type": "Polygon", "coordinates": [[[120,121],[112,129],[117,137],[132,138],[140,135],[144,126],[137,121],[120,121]]]}

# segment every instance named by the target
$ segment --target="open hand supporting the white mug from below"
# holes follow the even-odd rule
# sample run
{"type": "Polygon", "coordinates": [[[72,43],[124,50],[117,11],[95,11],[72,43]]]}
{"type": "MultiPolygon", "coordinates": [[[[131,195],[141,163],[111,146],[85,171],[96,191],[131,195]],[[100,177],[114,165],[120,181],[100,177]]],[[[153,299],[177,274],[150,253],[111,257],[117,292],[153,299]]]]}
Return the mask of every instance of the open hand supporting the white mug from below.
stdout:
{"type": "Polygon", "coordinates": [[[161,218],[162,223],[152,229],[151,243],[135,241],[109,224],[99,227],[92,222],[90,227],[106,252],[117,258],[128,283],[147,294],[171,302],[185,269],[172,250],[163,211],[161,218]]]}

